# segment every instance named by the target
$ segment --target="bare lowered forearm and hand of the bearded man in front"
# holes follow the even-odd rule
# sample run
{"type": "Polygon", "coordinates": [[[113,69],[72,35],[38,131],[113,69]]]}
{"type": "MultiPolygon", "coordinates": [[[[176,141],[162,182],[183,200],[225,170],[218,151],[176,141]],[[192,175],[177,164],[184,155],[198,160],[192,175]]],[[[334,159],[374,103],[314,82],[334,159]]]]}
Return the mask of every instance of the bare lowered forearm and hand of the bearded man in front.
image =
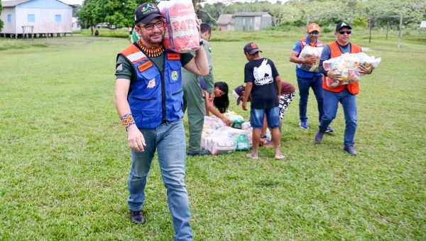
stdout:
{"type": "MultiPolygon", "coordinates": [[[[131,114],[129,102],[127,101],[127,94],[129,94],[129,79],[116,79],[116,86],[114,90],[115,106],[119,116],[131,114]]],[[[135,152],[143,152],[143,147],[146,146],[145,139],[136,124],[129,125],[127,128],[127,142],[131,150],[135,152]]]]}

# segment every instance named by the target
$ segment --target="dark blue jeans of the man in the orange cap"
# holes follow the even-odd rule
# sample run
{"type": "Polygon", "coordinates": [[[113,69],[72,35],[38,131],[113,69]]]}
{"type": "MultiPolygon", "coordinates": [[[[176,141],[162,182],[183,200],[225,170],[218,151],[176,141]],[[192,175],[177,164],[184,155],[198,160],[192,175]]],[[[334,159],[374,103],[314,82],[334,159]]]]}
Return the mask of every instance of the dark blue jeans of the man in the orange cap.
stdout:
{"type": "Polygon", "coordinates": [[[309,89],[312,88],[315,97],[317,98],[318,105],[318,120],[321,121],[323,105],[323,89],[322,89],[322,75],[314,76],[312,78],[302,78],[297,76],[297,86],[299,87],[299,118],[300,120],[307,120],[307,99],[309,98],[309,89]]]}

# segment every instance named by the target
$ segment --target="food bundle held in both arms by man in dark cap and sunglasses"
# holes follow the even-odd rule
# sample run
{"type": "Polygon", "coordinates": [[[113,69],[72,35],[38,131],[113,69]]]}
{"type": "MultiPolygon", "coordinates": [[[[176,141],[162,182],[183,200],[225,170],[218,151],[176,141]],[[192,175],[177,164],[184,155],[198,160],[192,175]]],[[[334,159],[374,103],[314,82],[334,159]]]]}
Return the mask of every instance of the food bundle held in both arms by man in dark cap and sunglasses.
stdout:
{"type": "Polygon", "coordinates": [[[352,84],[361,79],[361,74],[358,72],[359,65],[364,65],[366,67],[370,66],[373,69],[378,67],[378,64],[381,62],[381,58],[375,58],[374,56],[369,57],[364,52],[359,52],[356,54],[345,53],[339,57],[334,57],[330,60],[322,62],[322,66],[325,70],[334,69],[334,73],[342,74],[341,80],[333,80],[329,77],[326,77],[326,84],[329,87],[337,87],[344,84],[352,84]]]}

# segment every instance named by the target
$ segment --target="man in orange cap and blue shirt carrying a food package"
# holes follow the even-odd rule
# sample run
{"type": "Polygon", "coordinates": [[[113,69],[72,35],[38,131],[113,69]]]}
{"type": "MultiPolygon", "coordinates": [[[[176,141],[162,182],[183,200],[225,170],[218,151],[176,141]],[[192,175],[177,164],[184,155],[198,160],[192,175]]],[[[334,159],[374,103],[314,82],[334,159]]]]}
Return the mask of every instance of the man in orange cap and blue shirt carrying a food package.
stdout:
{"type": "MultiPolygon", "coordinates": [[[[321,120],[323,111],[323,94],[322,94],[322,74],[318,70],[313,72],[310,70],[312,65],[317,62],[317,56],[300,58],[299,55],[304,47],[324,47],[324,44],[318,40],[320,36],[320,26],[317,23],[311,23],[307,27],[306,36],[297,40],[293,50],[290,53],[290,62],[296,65],[297,87],[299,88],[299,118],[300,127],[309,128],[307,124],[307,100],[309,99],[309,89],[312,88],[317,98],[318,120],[321,120]]],[[[331,127],[327,127],[327,132],[333,132],[331,127]]]]}

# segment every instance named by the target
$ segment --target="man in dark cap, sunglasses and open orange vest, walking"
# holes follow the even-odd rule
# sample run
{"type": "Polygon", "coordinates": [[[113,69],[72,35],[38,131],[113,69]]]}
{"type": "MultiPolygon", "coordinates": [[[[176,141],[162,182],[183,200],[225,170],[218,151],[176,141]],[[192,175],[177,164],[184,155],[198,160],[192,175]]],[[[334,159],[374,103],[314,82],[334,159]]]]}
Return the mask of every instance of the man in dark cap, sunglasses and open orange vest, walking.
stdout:
{"type": "MultiPolygon", "coordinates": [[[[324,138],[324,133],[326,132],[327,127],[330,123],[332,123],[332,120],[336,118],[337,108],[340,102],[342,103],[344,118],[346,120],[346,128],[344,129],[344,151],[349,153],[349,155],[357,155],[358,152],[356,152],[354,148],[354,137],[357,123],[356,94],[359,93],[359,83],[354,82],[354,84],[346,84],[331,88],[327,86],[325,77],[338,81],[342,80],[342,74],[334,73],[334,69],[327,71],[322,66],[322,62],[325,60],[329,60],[333,57],[339,57],[346,52],[361,52],[361,47],[353,43],[349,43],[349,39],[351,38],[351,29],[352,28],[349,23],[337,23],[336,32],[334,32],[337,41],[329,43],[324,46],[324,49],[322,50],[319,69],[320,72],[324,74],[324,81],[322,82],[322,88],[324,89],[324,115],[322,115],[320,128],[315,135],[315,142],[322,142],[322,138],[324,138]]],[[[371,65],[369,67],[360,65],[358,69],[360,74],[371,74],[371,71],[371,65]]]]}

